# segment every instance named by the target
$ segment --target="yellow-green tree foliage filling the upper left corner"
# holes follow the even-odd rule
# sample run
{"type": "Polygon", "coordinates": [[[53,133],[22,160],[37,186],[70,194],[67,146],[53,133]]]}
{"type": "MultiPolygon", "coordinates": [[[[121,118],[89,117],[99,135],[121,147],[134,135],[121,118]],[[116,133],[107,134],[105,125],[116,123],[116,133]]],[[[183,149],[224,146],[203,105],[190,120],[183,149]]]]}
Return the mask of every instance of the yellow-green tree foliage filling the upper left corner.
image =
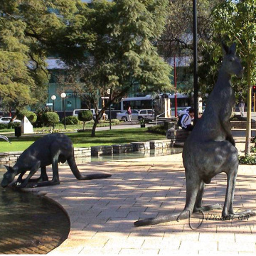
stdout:
{"type": "Polygon", "coordinates": [[[0,98],[6,108],[21,110],[46,102],[46,56],[58,43],[57,32],[80,4],[78,0],[0,0],[0,98]]]}

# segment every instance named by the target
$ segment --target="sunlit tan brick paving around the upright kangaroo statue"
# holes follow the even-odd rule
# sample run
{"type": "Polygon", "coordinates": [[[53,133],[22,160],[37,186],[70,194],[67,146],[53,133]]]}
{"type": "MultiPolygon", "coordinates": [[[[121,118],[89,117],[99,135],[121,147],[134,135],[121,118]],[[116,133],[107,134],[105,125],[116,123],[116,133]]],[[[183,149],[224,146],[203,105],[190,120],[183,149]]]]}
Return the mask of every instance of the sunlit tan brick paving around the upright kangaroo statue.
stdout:
{"type": "MultiPolygon", "coordinates": [[[[235,139],[238,149],[243,149],[240,138],[235,139]]],[[[50,254],[255,255],[256,217],[217,220],[221,210],[215,210],[205,213],[198,229],[191,229],[188,220],[134,227],[139,218],[183,209],[186,181],[181,154],[79,164],[79,169],[87,174],[110,173],[112,177],[77,181],[68,166],[62,165],[60,185],[32,189],[60,203],[70,218],[68,239],[50,254]]],[[[239,167],[235,210],[256,208],[255,173],[255,166],[239,167]]],[[[213,178],[206,186],[204,204],[223,205],[225,188],[225,174],[213,178]]],[[[198,221],[191,218],[191,226],[195,228],[198,221]]]]}

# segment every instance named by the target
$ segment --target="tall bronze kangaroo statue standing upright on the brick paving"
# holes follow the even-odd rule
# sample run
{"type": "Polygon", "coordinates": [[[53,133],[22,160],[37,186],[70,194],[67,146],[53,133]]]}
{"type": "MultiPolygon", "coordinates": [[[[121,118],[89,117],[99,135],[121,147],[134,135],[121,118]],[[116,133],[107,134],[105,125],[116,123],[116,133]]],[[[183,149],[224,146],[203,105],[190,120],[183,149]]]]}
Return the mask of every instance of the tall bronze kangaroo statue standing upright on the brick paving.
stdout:
{"type": "MultiPolygon", "coordinates": [[[[223,63],[218,80],[208,97],[206,110],[186,139],[183,146],[183,166],[186,174],[186,204],[181,213],[172,213],[156,218],[138,220],[136,226],[153,225],[173,220],[186,219],[193,212],[220,208],[220,205],[202,206],[203,189],[211,178],[225,172],[227,190],[222,217],[233,215],[235,179],[238,172],[238,150],[231,134],[230,116],[235,105],[231,75],[242,77],[243,68],[235,55],[235,44],[223,44],[223,63]]],[[[250,211],[244,212],[248,215],[250,211]]],[[[242,213],[239,213],[239,216],[242,213]]]]}

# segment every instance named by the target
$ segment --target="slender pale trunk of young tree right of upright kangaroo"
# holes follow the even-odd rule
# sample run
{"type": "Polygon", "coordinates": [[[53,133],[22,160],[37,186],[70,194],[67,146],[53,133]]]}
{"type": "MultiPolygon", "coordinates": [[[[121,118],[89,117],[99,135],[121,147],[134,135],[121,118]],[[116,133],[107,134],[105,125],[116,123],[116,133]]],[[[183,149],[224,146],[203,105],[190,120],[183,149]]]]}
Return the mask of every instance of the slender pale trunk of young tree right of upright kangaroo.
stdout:
{"type": "Polygon", "coordinates": [[[250,155],[250,139],[252,136],[252,87],[251,87],[251,61],[247,62],[247,123],[245,139],[245,155],[250,155]]]}

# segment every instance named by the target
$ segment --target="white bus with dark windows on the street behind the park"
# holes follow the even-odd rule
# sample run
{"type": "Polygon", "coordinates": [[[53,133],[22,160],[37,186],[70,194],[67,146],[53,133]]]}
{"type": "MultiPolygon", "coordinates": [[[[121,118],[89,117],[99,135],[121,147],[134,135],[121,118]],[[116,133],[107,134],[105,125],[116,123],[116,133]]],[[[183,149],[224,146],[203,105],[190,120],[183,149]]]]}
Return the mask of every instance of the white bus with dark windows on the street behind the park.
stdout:
{"type": "MultiPolygon", "coordinates": [[[[161,95],[159,95],[161,97],[161,95]]],[[[168,95],[171,99],[171,114],[175,112],[175,95],[168,95]]],[[[146,95],[144,97],[127,97],[121,100],[121,110],[127,110],[129,106],[132,110],[145,110],[154,109],[154,97],[152,95],[146,95]]],[[[191,99],[188,95],[177,93],[177,111],[182,110],[184,107],[191,106],[191,99]]]]}

